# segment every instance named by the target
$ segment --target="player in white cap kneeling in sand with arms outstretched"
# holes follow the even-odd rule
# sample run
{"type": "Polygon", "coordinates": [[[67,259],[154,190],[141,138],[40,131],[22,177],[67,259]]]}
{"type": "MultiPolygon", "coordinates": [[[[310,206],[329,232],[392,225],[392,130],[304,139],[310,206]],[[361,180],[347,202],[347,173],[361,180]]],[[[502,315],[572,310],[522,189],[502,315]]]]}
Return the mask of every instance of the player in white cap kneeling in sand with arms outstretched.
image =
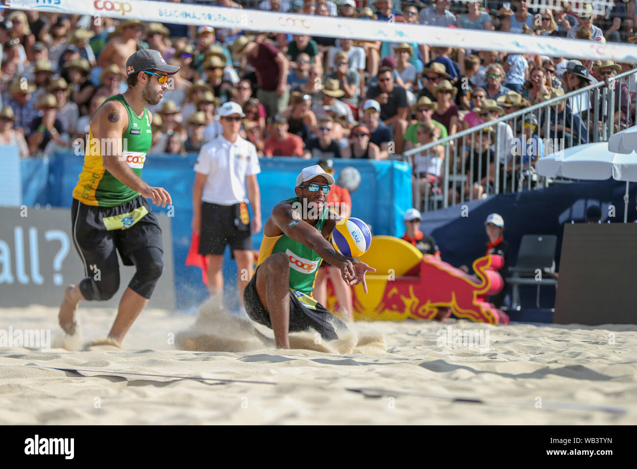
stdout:
{"type": "Polygon", "coordinates": [[[356,258],[345,257],[327,241],[341,218],[327,209],[334,177],[320,166],[303,168],[296,178],[296,197],[277,204],[263,227],[257,270],[243,292],[250,318],[273,329],[277,348],[290,348],[289,332],[315,329],[324,340],[347,330],[311,297],[321,259],[338,267],[348,285],[376,272],[356,258]]]}

